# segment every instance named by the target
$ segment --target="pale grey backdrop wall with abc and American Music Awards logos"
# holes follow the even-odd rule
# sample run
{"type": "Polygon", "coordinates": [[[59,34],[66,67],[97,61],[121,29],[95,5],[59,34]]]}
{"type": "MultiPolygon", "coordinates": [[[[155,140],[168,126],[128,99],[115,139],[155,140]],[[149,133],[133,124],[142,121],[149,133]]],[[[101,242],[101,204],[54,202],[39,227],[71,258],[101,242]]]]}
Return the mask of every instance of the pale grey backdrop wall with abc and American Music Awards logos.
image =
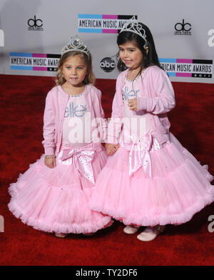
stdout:
{"type": "Polygon", "coordinates": [[[137,16],[171,81],[214,83],[213,11],[213,0],[1,0],[0,74],[54,76],[62,47],[78,34],[96,78],[116,79],[116,37],[137,16]]]}

